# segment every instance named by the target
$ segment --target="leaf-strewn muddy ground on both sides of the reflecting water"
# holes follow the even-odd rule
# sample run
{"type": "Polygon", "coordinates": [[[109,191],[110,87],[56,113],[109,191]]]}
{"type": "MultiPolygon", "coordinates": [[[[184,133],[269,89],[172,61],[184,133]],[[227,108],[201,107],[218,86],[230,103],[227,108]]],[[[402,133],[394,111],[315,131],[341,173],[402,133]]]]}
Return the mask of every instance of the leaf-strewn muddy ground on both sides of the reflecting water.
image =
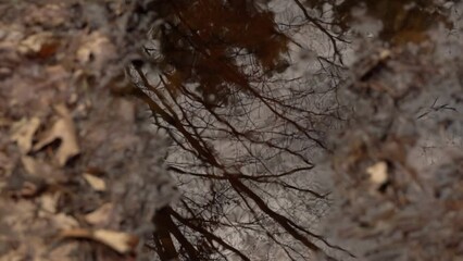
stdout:
{"type": "MultiPolygon", "coordinates": [[[[117,41],[97,4],[12,2],[0,4],[0,259],[132,260],[175,190],[145,105],[103,75],[117,70],[107,67],[117,41]]],[[[437,45],[389,50],[341,94],[361,124],[334,141],[326,234],[361,260],[463,260],[463,156],[450,146],[462,139],[463,63],[442,54],[463,46],[437,45]]]]}

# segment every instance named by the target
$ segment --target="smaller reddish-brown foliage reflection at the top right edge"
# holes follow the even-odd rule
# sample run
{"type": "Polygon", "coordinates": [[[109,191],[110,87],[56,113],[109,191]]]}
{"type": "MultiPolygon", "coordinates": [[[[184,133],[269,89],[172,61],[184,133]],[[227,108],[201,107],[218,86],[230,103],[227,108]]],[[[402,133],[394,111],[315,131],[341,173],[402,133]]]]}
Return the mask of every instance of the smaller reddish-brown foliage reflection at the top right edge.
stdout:
{"type": "MultiPolygon", "coordinates": [[[[323,10],[327,1],[306,0],[310,8],[323,10]]],[[[433,0],[346,0],[339,4],[333,1],[334,24],[342,30],[350,29],[351,24],[358,20],[352,12],[354,9],[364,9],[366,16],[379,20],[383,29],[379,38],[386,42],[405,44],[421,42],[427,39],[426,33],[438,23],[451,27],[447,15],[433,0]]]]}

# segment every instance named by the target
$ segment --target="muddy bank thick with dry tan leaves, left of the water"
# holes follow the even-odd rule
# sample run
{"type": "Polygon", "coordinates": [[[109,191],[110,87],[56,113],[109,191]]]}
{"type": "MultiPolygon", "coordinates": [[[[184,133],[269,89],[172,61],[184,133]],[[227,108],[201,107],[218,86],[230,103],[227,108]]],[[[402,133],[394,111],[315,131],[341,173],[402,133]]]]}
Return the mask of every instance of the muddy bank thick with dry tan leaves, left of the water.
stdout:
{"type": "Polygon", "coordinates": [[[130,260],[174,194],[146,107],[101,84],[117,3],[0,3],[0,260],[130,260]]]}

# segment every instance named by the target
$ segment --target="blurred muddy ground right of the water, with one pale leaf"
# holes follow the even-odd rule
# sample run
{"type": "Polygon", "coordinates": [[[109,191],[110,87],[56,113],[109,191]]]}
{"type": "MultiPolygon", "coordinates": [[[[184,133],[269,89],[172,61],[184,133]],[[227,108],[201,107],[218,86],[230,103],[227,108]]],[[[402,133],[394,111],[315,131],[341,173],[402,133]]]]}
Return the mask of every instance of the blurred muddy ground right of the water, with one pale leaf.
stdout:
{"type": "Polygon", "coordinates": [[[463,63],[450,49],[397,49],[343,90],[354,110],[335,138],[325,235],[353,260],[463,260],[463,63]]]}

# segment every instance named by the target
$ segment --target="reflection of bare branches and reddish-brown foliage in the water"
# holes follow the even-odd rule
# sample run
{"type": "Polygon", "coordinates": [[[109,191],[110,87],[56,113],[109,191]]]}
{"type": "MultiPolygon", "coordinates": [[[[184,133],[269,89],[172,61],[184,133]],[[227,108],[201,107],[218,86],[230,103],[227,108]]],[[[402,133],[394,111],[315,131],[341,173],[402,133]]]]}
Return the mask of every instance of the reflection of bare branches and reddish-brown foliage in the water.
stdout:
{"type": "MultiPolygon", "coordinates": [[[[329,32],[331,24],[306,8],[325,1],[291,2],[333,47],[329,59],[318,60],[322,67],[339,67],[343,33],[329,32]]],[[[399,41],[400,32],[431,26],[421,5],[404,11],[409,2],[365,3],[384,22],[383,38],[399,41]]],[[[335,24],[347,30],[355,5],[335,5],[335,24]]],[[[166,159],[183,192],[177,206],[154,217],[161,260],[306,260],[343,251],[310,226],[327,202],[311,187],[312,157],[329,153],[322,130],[339,121],[336,102],[316,103],[333,89],[276,74],[285,71],[293,41],[277,29],[274,14],[250,0],[158,0],[151,8],[161,23],[146,52],[158,73],[136,64],[135,92],[173,140],[166,159]]]]}

